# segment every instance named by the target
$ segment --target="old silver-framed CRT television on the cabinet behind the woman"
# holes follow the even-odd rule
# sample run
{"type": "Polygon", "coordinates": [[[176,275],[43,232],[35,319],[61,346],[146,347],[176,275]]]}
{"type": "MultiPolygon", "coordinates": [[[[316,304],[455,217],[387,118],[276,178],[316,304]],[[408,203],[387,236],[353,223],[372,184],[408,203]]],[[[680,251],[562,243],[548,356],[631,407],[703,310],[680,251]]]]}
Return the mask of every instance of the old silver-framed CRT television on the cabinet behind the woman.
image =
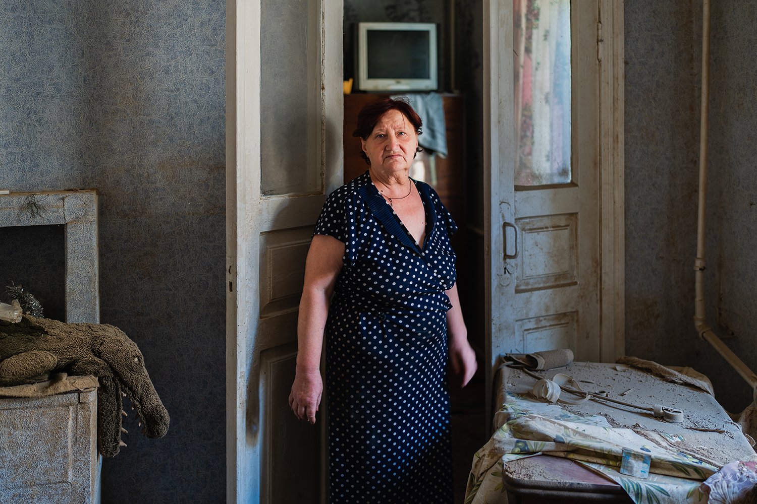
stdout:
{"type": "Polygon", "coordinates": [[[435,91],[435,23],[358,23],[357,88],[435,91]]]}

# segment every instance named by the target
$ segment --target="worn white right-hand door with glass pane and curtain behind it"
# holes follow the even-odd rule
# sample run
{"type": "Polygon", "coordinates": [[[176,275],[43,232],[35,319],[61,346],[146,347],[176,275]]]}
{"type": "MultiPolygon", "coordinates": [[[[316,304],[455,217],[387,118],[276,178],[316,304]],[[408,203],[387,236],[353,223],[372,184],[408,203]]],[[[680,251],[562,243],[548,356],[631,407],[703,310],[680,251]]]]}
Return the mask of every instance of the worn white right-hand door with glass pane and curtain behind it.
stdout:
{"type": "Polygon", "coordinates": [[[506,351],[600,357],[597,2],[513,2],[515,206],[506,351]],[[516,10],[516,8],[518,8],[516,10]],[[571,120],[572,119],[572,120],[571,120]]]}

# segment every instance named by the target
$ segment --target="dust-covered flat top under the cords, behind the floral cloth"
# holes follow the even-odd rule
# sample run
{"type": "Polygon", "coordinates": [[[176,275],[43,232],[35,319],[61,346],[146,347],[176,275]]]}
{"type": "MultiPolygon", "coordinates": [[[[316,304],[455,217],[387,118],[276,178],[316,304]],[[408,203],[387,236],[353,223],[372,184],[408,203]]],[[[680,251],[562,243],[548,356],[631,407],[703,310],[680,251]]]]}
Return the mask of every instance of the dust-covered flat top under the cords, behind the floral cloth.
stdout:
{"type": "MultiPolygon", "coordinates": [[[[716,465],[734,460],[757,459],[739,425],[731,420],[715,397],[698,388],[665,382],[640,369],[622,364],[574,362],[549,371],[537,371],[544,379],[564,373],[578,380],[584,391],[605,391],[608,397],[653,407],[662,404],[684,412],[684,422],[671,423],[655,418],[632,407],[609,401],[589,400],[584,404],[560,404],[565,411],[577,416],[604,416],[615,428],[630,428],[670,449],[677,448],[699,456],[716,465]],[[704,429],[704,430],[694,430],[704,429]],[[646,434],[646,435],[645,435],[646,434]]],[[[535,379],[519,369],[510,371],[507,387],[510,393],[528,395],[535,379]]],[[[575,394],[562,391],[561,397],[576,400],[575,394]]]]}

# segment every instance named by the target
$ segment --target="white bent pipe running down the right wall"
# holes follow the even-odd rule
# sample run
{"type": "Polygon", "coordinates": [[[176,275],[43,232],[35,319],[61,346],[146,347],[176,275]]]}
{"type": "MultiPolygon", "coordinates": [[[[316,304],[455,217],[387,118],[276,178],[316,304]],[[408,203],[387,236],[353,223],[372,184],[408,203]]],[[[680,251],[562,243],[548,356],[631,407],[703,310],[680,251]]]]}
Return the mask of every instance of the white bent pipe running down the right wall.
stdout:
{"type": "Polygon", "coordinates": [[[707,206],[707,144],[709,139],[709,0],[702,0],[702,104],[699,124],[699,220],[696,229],[694,326],[696,332],[718,351],[749,383],[757,397],[757,375],[707,325],[705,309],[705,214],[707,206]]]}

